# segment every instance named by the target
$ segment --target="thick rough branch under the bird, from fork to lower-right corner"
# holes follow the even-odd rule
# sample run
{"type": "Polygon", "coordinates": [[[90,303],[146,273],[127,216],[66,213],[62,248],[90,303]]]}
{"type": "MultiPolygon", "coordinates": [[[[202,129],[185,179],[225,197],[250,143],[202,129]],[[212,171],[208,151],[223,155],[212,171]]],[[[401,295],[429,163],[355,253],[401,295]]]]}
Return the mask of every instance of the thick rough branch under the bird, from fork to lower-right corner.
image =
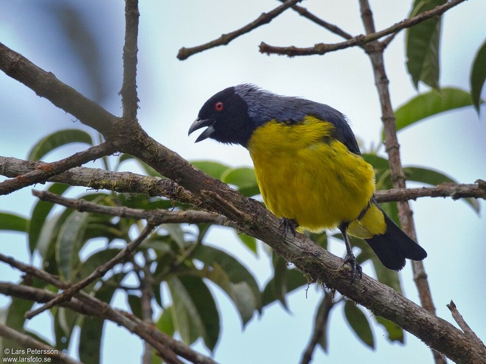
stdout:
{"type": "MultiPolygon", "coordinates": [[[[70,105],[65,105],[65,108],[70,112],[70,105]]],[[[392,288],[366,275],[351,286],[349,267],[343,266],[342,259],[319,247],[303,234],[298,233],[295,238],[284,236],[278,219],[259,202],[243,197],[225,183],[198,170],[174,151],[157,143],[138,124],[130,124],[127,128],[123,123],[114,123],[112,127],[114,131],[107,138],[115,141],[120,151],[140,158],[163,176],[172,179],[176,185],[180,184],[189,190],[201,201],[201,208],[225,215],[240,231],[267,243],[312,280],[322,281],[374,314],[392,320],[457,363],[483,361],[483,348],[478,347],[469,336],[392,288]]]]}

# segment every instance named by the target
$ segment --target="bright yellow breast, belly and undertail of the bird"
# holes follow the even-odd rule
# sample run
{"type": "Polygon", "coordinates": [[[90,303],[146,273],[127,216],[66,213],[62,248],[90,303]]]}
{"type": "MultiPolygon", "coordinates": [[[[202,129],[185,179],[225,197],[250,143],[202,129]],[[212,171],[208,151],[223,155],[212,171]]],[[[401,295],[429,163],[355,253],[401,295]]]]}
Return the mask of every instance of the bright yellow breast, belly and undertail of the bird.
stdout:
{"type": "MultiPolygon", "coordinates": [[[[355,220],[374,192],[372,166],[334,139],[333,128],[312,116],[294,125],[269,121],[248,142],[267,208],[312,232],[355,220]]],[[[373,205],[348,231],[359,237],[383,233],[381,211],[373,205]]]]}

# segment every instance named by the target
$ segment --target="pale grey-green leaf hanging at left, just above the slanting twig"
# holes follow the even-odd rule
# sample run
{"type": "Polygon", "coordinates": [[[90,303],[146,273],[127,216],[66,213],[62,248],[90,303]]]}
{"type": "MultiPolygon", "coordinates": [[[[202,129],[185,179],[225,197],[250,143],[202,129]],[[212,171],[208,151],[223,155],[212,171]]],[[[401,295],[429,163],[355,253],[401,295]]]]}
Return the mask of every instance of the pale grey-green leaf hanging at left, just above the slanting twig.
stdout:
{"type": "Polygon", "coordinates": [[[86,223],[88,213],[76,211],[69,215],[63,224],[56,242],[56,261],[61,276],[67,281],[71,280],[71,273],[79,263],[79,249],[86,223]]]}

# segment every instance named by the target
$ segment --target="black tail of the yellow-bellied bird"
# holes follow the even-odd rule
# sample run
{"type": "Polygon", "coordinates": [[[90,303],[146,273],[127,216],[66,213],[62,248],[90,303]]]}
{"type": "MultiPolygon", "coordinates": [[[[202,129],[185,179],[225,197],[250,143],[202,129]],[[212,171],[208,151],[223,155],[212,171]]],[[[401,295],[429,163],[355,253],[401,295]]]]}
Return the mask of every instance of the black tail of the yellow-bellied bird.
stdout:
{"type": "MultiPolygon", "coordinates": [[[[378,208],[383,212],[376,201],[378,208]]],[[[422,260],[427,252],[395,224],[384,212],[386,231],[380,235],[374,235],[370,239],[364,239],[375,251],[376,255],[385,267],[393,270],[400,270],[405,266],[405,258],[422,260]]]]}

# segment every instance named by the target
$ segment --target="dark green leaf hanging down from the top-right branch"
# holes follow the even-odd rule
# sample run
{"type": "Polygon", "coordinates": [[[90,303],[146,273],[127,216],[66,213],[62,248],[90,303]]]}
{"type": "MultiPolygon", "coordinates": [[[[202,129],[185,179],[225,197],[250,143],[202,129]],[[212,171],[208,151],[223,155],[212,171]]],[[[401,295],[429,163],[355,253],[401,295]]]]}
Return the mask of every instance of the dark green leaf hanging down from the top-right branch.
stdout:
{"type": "MultiPolygon", "coordinates": [[[[432,10],[445,2],[446,0],[415,0],[409,17],[432,10]]],[[[441,17],[433,17],[407,29],[407,69],[415,88],[419,81],[433,88],[439,87],[440,27],[441,17]]]]}

